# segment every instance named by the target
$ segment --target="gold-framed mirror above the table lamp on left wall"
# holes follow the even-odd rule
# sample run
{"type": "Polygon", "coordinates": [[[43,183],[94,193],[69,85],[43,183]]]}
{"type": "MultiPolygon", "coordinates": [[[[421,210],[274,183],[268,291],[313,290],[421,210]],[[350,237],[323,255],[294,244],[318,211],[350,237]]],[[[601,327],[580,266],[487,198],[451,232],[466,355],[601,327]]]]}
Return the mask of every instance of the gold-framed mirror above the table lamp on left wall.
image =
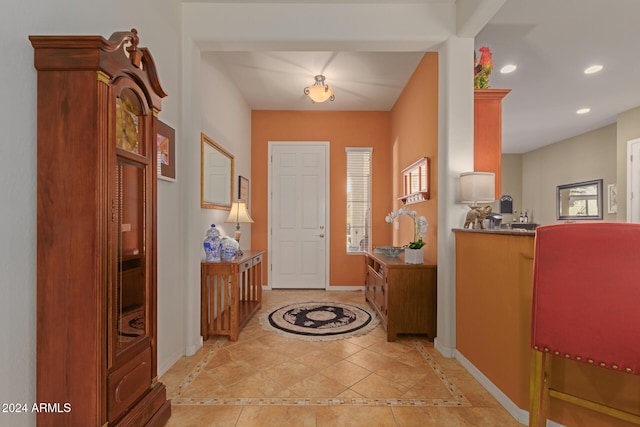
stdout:
{"type": "Polygon", "coordinates": [[[200,205],[231,210],[233,202],[233,154],[204,133],[200,136],[200,205]]]}

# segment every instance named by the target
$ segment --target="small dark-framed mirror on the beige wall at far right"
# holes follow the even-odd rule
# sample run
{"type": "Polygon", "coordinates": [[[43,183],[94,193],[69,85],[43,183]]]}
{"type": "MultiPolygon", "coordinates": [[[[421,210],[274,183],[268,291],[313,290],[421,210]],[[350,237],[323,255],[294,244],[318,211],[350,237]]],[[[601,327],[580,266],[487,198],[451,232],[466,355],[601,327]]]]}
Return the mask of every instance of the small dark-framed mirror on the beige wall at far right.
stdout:
{"type": "Polygon", "coordinates": [[[556,188],[558,219],[602,219],[601,179],[558,185],[556,188]]]}

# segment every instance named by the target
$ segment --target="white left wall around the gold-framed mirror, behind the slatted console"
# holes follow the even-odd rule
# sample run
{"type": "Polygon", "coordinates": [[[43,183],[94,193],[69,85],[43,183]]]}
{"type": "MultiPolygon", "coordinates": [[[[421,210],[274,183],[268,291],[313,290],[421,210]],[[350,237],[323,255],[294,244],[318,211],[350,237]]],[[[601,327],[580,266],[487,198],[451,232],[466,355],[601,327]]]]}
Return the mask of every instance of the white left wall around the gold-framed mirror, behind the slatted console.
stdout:
{"type": "MultiPolygon", "coordinates": [[[[216,224],[223,235],[233,236],[234,224],[224,220],[228,211],[200,207],[200,138],[204,133],[234,155],[234,192],[237,177],[249,178],[251,185],[251,110],[222,69],[215,53],[203,53],[194,31],[198,26],[186,19],[182,33],[182,118],[185,151],[182,165],[183,219],[183,325],[185,354],[192,355],[202,345],[200,336],[200,261],[204,258],[202,242],[206,230],[216,224]]],[[[251,194],[251,190],[249,190],[251,194]]],[[[236,192],[237,194],[237,192],[236,192]]],[[[251,206],[250,206],[251,207],[251,206]]],[[[251,226],[241,226],[241,247],[250,249],[251,226]]]]}

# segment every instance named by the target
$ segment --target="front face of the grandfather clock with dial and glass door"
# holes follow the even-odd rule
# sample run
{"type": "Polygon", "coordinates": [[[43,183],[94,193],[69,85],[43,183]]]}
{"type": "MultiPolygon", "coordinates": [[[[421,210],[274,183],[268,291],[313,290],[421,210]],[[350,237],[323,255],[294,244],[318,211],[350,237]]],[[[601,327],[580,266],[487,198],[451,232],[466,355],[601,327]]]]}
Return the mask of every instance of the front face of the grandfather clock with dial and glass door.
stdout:
{"type": "Polygon", "coordinates": [[[110,422],[151,388],[155,312],[155,145],[151,108],[128,77],[112,84],[109,163],[113,170],[109,279],[110,422]]]}

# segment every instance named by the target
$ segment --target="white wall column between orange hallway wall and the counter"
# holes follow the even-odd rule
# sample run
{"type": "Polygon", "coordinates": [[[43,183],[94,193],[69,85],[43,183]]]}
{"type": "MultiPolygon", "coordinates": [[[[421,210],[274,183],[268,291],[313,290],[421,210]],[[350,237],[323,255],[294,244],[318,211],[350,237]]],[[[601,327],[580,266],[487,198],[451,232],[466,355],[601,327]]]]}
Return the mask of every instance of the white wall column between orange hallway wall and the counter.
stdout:
{"type": "Polygon", "coordinates": [[[456,349],[456,259],[451,231],[464,224],[460,173],[473,170],[473,38],[449,38],[438,51],[438,328],[435,348],[456,349]]]}

